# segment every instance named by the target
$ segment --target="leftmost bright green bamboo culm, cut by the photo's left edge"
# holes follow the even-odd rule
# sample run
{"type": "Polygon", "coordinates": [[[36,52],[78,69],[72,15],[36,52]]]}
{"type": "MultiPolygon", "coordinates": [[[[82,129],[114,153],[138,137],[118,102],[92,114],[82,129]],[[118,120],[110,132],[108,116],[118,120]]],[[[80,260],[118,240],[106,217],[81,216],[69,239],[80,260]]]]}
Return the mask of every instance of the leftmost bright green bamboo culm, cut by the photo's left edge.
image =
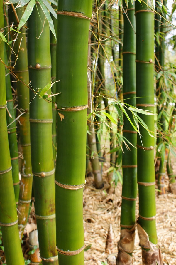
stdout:
{"type": "MultiPolygon", "coordinates": [[[[3,1],[0,1],[0,28],[4,31],[3,1]]],[[[18,217],[13,189],[11,159],[6,123],[6,83],[4,66],[4,41],[0,39],[0,226],[8,265],[24,265],[18,234],[18,217]],[[15,247],[14,247],[15,246],[15,247]]]]}

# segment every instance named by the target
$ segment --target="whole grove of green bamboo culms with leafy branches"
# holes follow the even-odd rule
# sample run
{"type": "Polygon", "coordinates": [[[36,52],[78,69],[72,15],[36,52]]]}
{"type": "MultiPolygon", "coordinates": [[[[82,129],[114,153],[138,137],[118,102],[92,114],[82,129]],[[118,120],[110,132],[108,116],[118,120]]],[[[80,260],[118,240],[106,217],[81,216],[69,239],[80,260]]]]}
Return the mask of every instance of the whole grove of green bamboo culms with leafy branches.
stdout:
{"type": "Polygon", "coordinates": [[[155,194],[165,193],[165,178],[176,194],[176,67],[165,56],[176,46],[166,38],[175,9],[0,0],[0,263],[83,265],[82,202],[93,175],[96,189],[122,184],[116,265],[133,263],[136,224],[142,264],[163,264],[155,194]],[[26,260],[32,214],[40,252],[30,246],[26,260]]]}

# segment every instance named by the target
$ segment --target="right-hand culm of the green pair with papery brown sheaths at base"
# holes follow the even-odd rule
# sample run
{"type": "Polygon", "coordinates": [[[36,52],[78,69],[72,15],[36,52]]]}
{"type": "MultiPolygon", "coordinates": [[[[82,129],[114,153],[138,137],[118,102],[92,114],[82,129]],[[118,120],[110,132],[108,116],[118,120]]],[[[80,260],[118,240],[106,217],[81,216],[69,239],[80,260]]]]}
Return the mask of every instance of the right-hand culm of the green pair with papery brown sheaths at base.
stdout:
{"type": "MultiPolygon", "coordinates": [[[[154,113],[154,11],[153,2],[135,2],[136,15],[136,107],[154,113]]],[[[154,132],[154,116],[140,115],[154,132]]],[[[143,264],[163,264],[156,247],[155,204],[155,138],[141,125],[141,139],[137,137],[137,180],[139,190],[139,217],[137,222],[143,264]],[[145,238],[145,240],[143,240],[145,238]],[[148,239],[149,238],[149,239],[148,239]]]]}

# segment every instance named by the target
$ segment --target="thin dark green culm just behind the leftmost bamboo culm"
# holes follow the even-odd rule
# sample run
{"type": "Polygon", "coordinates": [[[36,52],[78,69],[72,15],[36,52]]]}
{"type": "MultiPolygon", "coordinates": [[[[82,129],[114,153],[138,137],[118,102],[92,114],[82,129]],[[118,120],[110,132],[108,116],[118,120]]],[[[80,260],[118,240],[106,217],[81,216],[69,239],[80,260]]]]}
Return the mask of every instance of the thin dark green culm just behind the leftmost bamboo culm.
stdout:
{"type": "MultiPolygon", "coordinates": [[[[5,51],[5,63],[8,66],[7,53],[5,51]]],[[[14,111],[14,102],[11,89],[10,71],[6,68],[6,99],[7,99],[7,126],[8,126],[8,139],[9,148],[12,164],[12,177],[13,177],[13,188],[15,192],[16,204],[18,204],[18,197],[20,192],[19,182],[19,166],[18,166],[18,143],[16,133],[16,113],[14,111]]]]}

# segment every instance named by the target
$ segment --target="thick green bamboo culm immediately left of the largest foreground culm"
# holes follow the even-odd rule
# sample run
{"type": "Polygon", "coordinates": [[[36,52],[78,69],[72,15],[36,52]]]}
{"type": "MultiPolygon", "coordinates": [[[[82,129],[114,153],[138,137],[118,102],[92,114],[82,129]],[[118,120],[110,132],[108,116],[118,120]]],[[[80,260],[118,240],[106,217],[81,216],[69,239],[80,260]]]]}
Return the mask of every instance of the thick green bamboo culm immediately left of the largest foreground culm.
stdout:
{"type": "MultiPolygon", "coordinates": [[[[28,19],[28,69],[30,90],[31,163],[35,216],[42,264],[58,264],[55,236],[55,183],[52,147],[52,104],[35,95],[51,80],[50,31],[37,3],[28,19]],[[34,98],[35,97],[35,98],[34,98]]],[[[40,93],[40,92],[39,92],[40,93]]],[[[50,89],[48,93],[51,94],[50,89]]]]}

